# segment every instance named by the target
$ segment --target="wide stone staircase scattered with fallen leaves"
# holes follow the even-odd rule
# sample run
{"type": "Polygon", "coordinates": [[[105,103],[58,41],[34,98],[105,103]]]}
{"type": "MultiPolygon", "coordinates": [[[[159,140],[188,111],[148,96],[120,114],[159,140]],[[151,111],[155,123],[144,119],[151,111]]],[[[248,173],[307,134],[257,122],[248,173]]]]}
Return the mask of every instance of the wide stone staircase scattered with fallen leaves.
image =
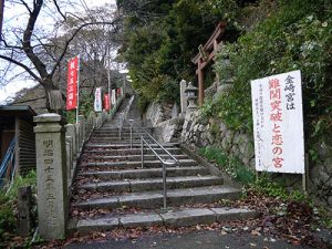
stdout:
{"type": "MultiPolygon", "coordinates": [[[[116,118],[115,118],[116,120],[116,118]]],[[[225,219],[250,218],[248,209],[225,208],[221,199],[236,199],[240,190],[190,158],[178,144],[164,144],[179,162],[167,167],[167,208],[163,208],[162,163],[141,141],[131,148],[129,126],[106,122],[85,144],[71,203],[71,231],[90,232],[118,227],[191,226],[225,219]]],[[[162,158],[168,155],[151,144],[162,158]]]]}

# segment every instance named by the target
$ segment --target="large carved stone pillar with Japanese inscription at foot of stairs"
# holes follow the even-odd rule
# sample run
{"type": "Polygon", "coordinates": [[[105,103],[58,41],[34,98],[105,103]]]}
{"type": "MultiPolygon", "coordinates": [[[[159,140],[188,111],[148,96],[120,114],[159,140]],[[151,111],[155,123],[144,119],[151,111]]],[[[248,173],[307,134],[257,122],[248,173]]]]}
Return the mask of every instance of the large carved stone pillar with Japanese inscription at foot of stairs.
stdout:
{"type": "Polygon", "coordinates": [[[33,121],[39,231],[45,240],[64,239],[69,215],[64,120],[48,113],[33,121]]]}

